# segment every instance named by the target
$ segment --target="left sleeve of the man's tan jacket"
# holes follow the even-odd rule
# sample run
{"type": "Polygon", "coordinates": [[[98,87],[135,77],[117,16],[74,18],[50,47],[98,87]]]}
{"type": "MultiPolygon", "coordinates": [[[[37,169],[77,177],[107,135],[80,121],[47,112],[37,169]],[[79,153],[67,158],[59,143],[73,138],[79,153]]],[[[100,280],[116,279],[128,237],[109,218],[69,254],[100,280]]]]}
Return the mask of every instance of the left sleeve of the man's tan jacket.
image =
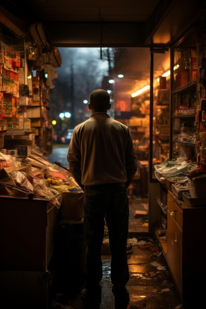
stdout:
{"type": "Polygon", "coordinates": [[[78,136],[75,129],[73,131],[70,145],[68,148],[67,161],[69,163],[69,170],[72,176],[74,177],[78,185],[81,188],[83,188],[81,182],[82,179],[81,153],[78,146],[78,136]]]}

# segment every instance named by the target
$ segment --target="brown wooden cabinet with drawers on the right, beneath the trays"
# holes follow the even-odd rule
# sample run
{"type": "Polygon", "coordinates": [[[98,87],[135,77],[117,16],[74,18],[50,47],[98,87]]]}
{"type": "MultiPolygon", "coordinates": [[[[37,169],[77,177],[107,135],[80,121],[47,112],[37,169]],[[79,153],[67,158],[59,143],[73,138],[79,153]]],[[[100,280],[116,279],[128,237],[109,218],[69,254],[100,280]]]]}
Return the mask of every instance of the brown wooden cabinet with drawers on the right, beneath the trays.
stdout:
{"type": "Polygon", "coordinates": [[[204,302],[205,227],[206,207],[187,207],[168,191],[165,258],[185,309],[201,308],[198,306],[204,302]]]}

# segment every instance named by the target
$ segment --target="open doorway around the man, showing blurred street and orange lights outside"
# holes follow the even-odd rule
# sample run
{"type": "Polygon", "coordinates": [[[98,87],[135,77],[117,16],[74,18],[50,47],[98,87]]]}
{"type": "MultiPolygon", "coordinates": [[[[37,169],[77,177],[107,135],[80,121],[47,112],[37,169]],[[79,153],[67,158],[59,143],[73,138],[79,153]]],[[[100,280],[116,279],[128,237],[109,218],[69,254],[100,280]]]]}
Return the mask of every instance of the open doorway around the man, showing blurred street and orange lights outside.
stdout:
{"type": "Polygon", "coordinates": [[[50,159],[68,166],[67,149],[73,128],[90,116],[88,100],[95,88],[110,94],[108,114],[131,132],[138,171],[128,189],[129,231],[148,232],[150,49],[59,48],[62,66],[50,92],[53,150],[50,159]]]}

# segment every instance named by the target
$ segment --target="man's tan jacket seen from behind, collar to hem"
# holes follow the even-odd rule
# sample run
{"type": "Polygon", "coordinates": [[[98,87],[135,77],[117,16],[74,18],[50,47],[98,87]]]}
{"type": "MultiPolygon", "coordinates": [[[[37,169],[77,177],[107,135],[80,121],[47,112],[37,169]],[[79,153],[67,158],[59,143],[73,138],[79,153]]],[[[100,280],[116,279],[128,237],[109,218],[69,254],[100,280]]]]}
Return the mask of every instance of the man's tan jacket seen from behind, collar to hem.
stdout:
{"type": "Polygon", "coordinates": [[[77,148],[81,156],[82,184],[126,182],[134,169],[133,144],[128,128],[106,113],[94,113],[73,132],[69,147],[70,170],[76,167],[77,148]]]}

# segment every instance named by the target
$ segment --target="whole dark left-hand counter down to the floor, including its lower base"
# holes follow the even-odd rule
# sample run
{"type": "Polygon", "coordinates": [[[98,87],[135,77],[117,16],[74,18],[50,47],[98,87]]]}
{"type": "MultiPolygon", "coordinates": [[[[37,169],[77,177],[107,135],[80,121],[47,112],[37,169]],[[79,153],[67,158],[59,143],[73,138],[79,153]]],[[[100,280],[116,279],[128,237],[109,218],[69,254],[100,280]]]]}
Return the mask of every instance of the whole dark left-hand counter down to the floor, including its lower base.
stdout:
{"type": "Polygon", "coordinates": [[[58,212],[46,200],[0,196],[0,296],[8,308],[50,308],[58,212]]]}

